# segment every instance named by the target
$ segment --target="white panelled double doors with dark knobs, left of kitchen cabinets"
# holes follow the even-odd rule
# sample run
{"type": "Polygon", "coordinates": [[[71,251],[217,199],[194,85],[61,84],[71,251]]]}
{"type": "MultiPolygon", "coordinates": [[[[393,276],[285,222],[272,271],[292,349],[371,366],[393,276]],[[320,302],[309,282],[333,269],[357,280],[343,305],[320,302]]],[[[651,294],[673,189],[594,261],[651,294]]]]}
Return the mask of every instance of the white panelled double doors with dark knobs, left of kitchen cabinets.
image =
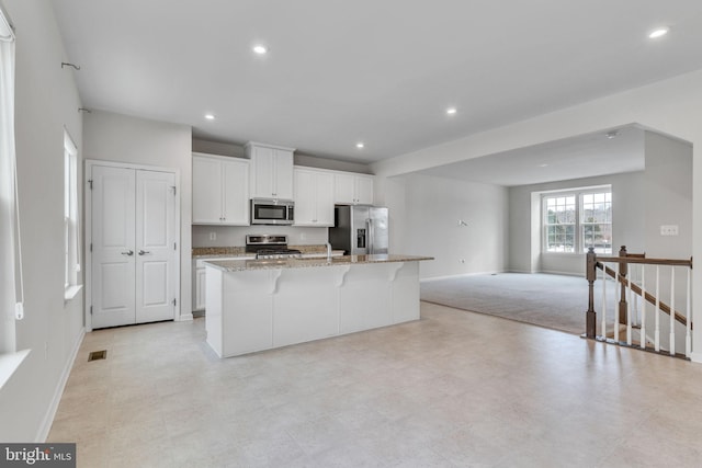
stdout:
{"type": "Polygon", "coordinates": [[[92,165],[92,328],[173,319],[176,175],[92,165]]]}

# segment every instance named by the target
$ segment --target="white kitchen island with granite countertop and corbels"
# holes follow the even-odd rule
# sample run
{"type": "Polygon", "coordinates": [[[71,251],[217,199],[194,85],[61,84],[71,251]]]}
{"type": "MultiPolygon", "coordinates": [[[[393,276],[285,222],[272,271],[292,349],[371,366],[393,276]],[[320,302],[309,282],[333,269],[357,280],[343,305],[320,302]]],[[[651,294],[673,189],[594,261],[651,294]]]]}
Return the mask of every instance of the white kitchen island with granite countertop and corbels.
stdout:
{"type": "Polygon", "coordinates": [[[414,255],[205,262],[207,343],[219,357],[419,319],[414,255]]]}

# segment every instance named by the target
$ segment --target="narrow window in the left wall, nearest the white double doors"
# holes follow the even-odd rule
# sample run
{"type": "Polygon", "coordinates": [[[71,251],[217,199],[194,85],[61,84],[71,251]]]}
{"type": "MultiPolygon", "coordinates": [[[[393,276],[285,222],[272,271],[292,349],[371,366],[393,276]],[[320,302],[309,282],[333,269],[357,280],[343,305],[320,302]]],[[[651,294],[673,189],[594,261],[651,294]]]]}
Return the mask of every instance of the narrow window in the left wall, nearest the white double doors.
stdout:
{"type": "Polygon", "coordinates": [[[80,249],[78,241],[78,150],[68,132],[64,133],[64,286],[66,299],[80,289],[80,249]]]}

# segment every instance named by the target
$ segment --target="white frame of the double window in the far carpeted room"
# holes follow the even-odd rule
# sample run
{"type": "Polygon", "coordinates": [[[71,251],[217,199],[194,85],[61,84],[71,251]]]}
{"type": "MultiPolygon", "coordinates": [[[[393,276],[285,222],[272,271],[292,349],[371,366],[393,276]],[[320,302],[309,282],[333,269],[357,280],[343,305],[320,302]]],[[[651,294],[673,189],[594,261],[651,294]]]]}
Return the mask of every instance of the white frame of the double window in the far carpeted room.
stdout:
{"type": "MultiPolygon", "coordinates": [[[[585,226],[588,225],[589,222],[585,222],[584,218],[585,218],[585,207],[584,207],[584,197],[585,195],[590,195],[590,194],[600,194],[600,193],[609,193],[609,210],[610,210],[610,217],[609,217],[609,222],[598,222],[598,225],[609,225],[609,231],[610,233],[613,233],[613,217],[612,217],[612,208],[613,208],[613,196],[612,196],[612,186],[611,185],[598,185],[598,186],[591,186],[591,187],[575,187],[575,189],[566,189],[566,190],[558,190],[558,191],[552,191],[552,192],[544,192],[541,194],[541,209],[542,209],[542,216],[541,216],[541,252],[547,255],[563,255],[563,256],[567,256],[567,255],[584,255],[587,253],[587,250],[585,248],[586,246],[586,236],[585,236],[585,226]],[[551,224],[548,224],[548,210],[547,210],[547,201],[550,198],[555,198],[555,197],[567,197],[567,196],[574,196],[575,197],[575,222],[573,224],[574,226],[574,242],[573,242],[573,251],[567,251],[567,252],[558,252],[558,251],[553,251],[553,250],[548,250],[548,226],[552,226],[551,224]]],[[[613,238],[613,236],[611,236],[613,238]]],[[[613,252],[613,246],[614,246],[614,241],[613,239],[610,239],[610,249],[609,252],[604,249],[600,250],[598,253],[605,253],[605,254],[610,254],[613,252]]]]}

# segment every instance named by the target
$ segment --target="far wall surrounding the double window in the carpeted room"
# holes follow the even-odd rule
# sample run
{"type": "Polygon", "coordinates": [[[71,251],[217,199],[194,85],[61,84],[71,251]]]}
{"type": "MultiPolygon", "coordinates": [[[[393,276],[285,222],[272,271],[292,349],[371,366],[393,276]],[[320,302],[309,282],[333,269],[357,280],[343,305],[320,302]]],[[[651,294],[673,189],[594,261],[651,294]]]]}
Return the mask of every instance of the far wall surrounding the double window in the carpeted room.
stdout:
{"type": "Polygon", "coordinates": [[[630,252],[644,250],[644,172],[575,179],[552,183],[521,185],[509,190],[509,270],[534,272],[532,258],[537,258],[536,272],[585,274],[585,254],[541,253],[541,197],[534,192],[568,190],[597,185],[612,185],[612,242],[613,249],[626,244],[630,252]],[[539,229],[532,229],[532,215],[536,214],[539,229]],[[537,242],[533,241],[536,236],[537,242]],[[534,251],[534,249],[537,249],[534,251]]]}

